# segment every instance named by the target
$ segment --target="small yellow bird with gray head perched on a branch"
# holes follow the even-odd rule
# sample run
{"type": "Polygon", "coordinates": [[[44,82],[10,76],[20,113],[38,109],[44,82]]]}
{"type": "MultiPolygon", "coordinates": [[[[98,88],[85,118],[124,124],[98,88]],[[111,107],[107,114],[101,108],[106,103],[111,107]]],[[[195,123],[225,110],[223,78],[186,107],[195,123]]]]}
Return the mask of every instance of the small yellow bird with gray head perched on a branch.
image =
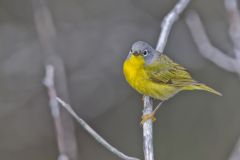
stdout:
{"type": "MultiPolygon", "coordinates": [[[[222,95],[194,80],[183,66],[143,41],[133,43],[123,63],[123,74],[133,89],[161,103],[184,90],[204,90],[222,95]]],[[[148,119],[156,119],[154,114],[161,103],[152,113],[142,117],[142,124],[148,119]]]]}

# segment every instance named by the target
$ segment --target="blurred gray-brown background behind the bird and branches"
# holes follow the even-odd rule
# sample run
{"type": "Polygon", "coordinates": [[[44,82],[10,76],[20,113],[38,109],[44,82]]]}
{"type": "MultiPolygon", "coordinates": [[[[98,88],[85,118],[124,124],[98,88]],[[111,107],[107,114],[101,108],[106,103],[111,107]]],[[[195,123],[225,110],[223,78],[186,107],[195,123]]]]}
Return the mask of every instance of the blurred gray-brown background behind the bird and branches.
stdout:
{"type": "MultiPolygon", "coordinates": [[[[112,145],[143,159],[141,95],[126,83],[122,63],[133,42],[156,45],[161,20],[177,1],[47,2],[71,105],[112,145]]],[[[182,92],[164,103],[154,123],[155,156],[163,160],[226,160],[240,136],[240,81],[198,53],[184,21],[190,9],[201,16],[213,44],[233,55],[223,0],[193,0],[174,25],[165,52],[223,96],[182,92]]],[[[58,156],[33,12],[30,0],[0,0],[3,160],[54,160],[58,156]]],[[[118,159],[78,124],[74,126],[79,159],[118,159]]]]}

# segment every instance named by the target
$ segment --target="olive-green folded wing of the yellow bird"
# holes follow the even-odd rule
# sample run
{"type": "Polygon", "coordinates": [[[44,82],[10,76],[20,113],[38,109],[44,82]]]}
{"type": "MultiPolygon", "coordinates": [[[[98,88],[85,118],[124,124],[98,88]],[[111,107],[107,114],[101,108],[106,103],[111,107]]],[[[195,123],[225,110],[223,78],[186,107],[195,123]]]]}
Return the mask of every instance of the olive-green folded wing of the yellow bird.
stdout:
{"type": "Polygon", "coordinates": [[[181,87],[195,82],[184,67],[163,54],[152,64],[146,65],[145,71],[148,77],[157,83],[181,87]]]}

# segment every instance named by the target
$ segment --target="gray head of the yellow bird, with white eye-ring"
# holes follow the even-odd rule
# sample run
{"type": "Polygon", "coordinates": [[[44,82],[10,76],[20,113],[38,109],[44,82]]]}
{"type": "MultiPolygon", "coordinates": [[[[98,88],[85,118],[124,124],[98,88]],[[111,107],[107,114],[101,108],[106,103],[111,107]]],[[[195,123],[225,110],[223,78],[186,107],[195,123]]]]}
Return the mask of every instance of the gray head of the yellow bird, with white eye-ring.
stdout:
{"type": "Polygon", "coordinates": [[[152,48],[148,43],[137,41],[133,43],[128,57],[133,54],[134,56],[143,56],[145,63],[150,64],[158,56],[157,51],[152,48]]]}

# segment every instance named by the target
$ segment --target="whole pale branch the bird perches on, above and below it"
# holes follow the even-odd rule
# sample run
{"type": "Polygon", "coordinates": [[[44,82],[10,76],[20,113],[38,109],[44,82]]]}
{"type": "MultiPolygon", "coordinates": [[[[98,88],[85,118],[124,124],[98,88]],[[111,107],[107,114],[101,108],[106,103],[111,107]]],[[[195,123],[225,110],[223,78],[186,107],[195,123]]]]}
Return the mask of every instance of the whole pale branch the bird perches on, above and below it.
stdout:
{"type": "MultiPolygon", "coordinates": [[[[156,49],[162,53],[171,31],[172,25],[177,21],[179,15],[187,7],[190,0],[179,0],[175,7],[167,14],[161,24],[161,32],[157,42],[156,49]]],[[[143,116],[153,111],[153,100],[148,96],[144,96],[143,116]]],[[[153,149],[153,127],[152,120],[148,120],[143,124],[143,150],[145,160],[154,160],[153,149]]]]}

